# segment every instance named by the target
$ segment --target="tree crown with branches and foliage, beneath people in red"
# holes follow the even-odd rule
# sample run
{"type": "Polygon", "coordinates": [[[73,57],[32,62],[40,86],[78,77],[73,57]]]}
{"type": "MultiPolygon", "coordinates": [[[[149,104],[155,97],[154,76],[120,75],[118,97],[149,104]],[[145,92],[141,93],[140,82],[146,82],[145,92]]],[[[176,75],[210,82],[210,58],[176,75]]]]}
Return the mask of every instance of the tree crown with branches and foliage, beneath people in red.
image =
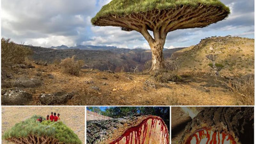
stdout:
{"type": "MultiPolygon", "coordinates": [[[[78,136],[62,122],[36,122],[32,116],[4,132],[2,139],[16,144],[82,144],[78,136]]],[[[45,118],[43,118],[45,120],[45,118]]]]}

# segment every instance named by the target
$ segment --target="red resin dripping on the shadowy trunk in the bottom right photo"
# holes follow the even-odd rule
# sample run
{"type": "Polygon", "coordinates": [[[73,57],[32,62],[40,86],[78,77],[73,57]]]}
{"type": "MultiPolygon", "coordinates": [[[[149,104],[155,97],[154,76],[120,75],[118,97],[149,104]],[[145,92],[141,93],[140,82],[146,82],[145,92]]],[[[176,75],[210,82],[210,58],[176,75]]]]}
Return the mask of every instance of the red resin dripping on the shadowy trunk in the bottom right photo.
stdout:
{"type": "Polygon", "coordinates": [[[230,134],[227,134],[226,132],[219,133],[215,131],[213,132],[212,137],[210,136],[210,132],[213,132],[211,128],[198,129],[195,133],[193,133],[190,137],[188,137],[185,144],[192,144],[191,140],[193,138],[196,139],[196,144],[200,144],[203,138],[207,138],[207,142],[205,144],[224,144],[224,140],[227,140],[227,141],[230,140],[232,144],[236,144],[235,139],[230,134]],[[218,134],[218,138],[217,138],[217,134],[218,134]],[[221,143],[220,143],[220,137],[222,138],[221,143]]]}

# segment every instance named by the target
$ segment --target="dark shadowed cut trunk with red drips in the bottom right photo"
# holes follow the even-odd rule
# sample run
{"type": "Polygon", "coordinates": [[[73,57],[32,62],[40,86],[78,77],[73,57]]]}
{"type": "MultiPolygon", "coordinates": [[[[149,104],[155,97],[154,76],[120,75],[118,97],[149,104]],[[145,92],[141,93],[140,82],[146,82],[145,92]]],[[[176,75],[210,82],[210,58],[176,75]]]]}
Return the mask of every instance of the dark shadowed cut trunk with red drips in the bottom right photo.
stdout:
{"type": "Polygon", "coordinates": [[[253,144],[253,107],[207,107],[185,128],[180,144],[253,144]]]}

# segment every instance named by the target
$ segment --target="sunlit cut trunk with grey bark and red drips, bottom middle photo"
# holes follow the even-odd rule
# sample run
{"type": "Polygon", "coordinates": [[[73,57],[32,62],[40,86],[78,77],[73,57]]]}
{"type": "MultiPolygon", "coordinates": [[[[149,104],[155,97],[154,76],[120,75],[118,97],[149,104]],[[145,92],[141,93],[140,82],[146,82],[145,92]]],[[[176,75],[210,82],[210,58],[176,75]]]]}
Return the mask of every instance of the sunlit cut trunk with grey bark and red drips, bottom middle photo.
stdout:
{"type": "Polygon", "coordinates": [[[168,128],[158,116],[87,121],[87,144],[169,144],[168,128]]]}

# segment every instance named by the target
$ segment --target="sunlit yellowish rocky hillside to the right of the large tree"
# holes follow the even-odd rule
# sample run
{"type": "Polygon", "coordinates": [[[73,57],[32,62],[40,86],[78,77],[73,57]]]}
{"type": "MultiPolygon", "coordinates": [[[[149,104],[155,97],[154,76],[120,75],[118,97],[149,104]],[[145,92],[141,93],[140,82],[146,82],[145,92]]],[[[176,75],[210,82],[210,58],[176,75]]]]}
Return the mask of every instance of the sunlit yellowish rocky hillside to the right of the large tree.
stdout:
{"type": "Polygon", "coordinates": [[[222,75],[254,74],[254,39],[242,37],[208,37],[199,44],[174,52],[169,62],[179,63],[182,71],[211,71],[205,56],[217,54],[216,63],[224,67],[222,75]]]}

